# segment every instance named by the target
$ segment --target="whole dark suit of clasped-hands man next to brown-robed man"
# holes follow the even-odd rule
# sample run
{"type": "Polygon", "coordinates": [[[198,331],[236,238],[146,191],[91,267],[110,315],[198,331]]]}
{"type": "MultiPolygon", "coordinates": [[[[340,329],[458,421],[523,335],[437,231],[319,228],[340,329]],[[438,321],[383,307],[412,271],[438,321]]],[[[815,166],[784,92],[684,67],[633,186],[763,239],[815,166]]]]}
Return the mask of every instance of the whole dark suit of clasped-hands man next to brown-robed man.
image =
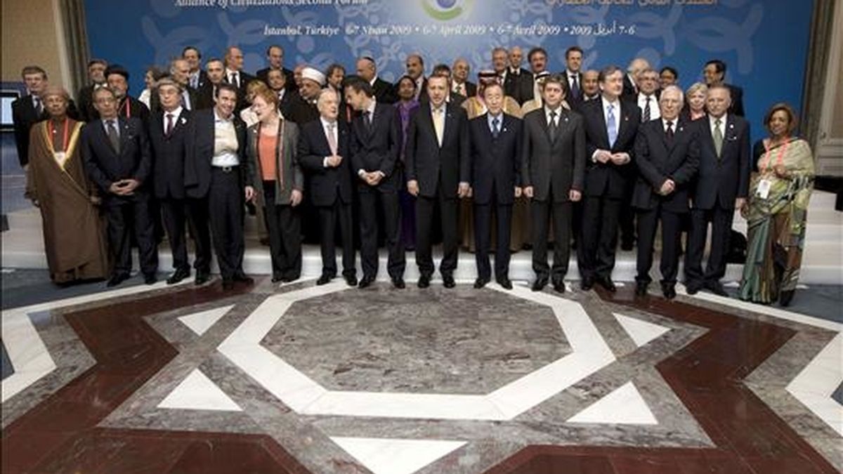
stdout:
{"type": "Polygon", "coordinates": [[[111,146],[103,121],[94,121],[83,128],[81,146],[85,170],[99,186],[108,218],[108,236],[114,274],[132,271],[129,229],[134,228],[141,271],[154,275],[158,270],[158,250],[153,237],[153,221],[149,215],[148,178],[152,159],[146,127],[137,117],[117,121],[120,149],[111,146]],[[109,191],[111,183],[134,179],[141,184],[131,196],[117,196],[109,191]]]}

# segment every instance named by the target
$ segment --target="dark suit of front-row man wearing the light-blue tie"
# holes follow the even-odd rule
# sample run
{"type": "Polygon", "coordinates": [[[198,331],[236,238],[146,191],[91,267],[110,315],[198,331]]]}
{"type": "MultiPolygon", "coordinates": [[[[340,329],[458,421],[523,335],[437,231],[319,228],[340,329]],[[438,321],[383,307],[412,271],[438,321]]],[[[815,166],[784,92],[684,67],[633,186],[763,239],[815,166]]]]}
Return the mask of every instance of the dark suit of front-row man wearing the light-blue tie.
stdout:
{"type": "Polygon", "coordinates": [[[582,237],[577,244],[577,262],[583,278],[609,278],[615,267],[618,219],[627,189],[634,182],[635,137],[641,122],[641,110],[633,102],[620,100],[615,110],[617,138],[609,145],[603,100],[583,104],[586,130],[586,178],[583,200],[582,237]],[[609,153],[627,153],[626,164],[599,163],[593,160],[598,149],[609,153]]]}

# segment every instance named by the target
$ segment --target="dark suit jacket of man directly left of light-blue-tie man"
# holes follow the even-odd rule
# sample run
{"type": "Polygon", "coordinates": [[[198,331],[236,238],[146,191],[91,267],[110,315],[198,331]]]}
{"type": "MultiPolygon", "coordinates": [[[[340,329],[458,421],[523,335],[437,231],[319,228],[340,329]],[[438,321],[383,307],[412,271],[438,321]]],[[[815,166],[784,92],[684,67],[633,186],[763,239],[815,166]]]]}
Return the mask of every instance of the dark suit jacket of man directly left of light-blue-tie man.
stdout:
{"type": "Polygon", "coordinates": [[[559,131],[550,142],[550,127],[545,108],[524,116],[524,146],[521,182],[533,186],[533,199],[546,201],[553,186],[553,201],[569,201],[568,191],[583,191],[586,162],[586,137],[583,117],[571,110],[561,110],[559,131]]]}

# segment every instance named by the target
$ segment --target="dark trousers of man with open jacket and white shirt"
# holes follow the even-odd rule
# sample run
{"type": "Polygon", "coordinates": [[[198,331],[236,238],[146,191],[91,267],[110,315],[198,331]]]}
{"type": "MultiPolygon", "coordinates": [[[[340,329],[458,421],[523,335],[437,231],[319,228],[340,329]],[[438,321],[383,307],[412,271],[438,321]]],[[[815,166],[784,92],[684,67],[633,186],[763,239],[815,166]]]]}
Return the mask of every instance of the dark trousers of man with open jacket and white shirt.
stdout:
{"type": "Polygon", "coordinates": [[[223,280],[231,280],[243,273],[243,201],[244,189],[239,167],[230,171],[213,167],[207,205],[213,247],[217,253],[219,273],[223,280]]]}

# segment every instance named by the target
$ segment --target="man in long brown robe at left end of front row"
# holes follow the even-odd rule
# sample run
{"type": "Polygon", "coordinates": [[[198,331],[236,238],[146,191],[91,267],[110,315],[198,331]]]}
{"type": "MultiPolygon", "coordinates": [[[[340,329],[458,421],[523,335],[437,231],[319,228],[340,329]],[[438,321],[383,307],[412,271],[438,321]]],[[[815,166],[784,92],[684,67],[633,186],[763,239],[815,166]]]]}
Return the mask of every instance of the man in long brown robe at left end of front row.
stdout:
{"type": "Polygon", "coordinates": [[[30,130],[26,196],[40,209],[50,279],[65,285],[109,274],[96,186],[85,175],[78,141],[83,123],[67,116],[70,96],[51,87],[41,94],[50,116],[30,130]]]}

